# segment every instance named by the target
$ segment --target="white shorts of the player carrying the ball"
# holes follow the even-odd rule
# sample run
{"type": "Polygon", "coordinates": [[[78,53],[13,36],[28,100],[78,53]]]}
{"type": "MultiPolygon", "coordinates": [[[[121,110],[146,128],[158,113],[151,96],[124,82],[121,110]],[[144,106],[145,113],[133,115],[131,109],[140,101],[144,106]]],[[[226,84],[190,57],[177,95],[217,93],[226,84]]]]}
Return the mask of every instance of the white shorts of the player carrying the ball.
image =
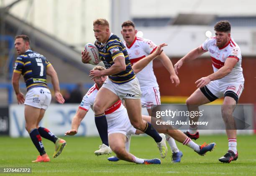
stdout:
{"type": "Polygon", "coordinates": [[[120,100],[123,100],[123,98],[141,98],[141,88],[137,78],[123,84],[115,84],[110,79],[107,79],[102,85],[102,88],[107,88],[112,91],[120,98],[120,100]]]}

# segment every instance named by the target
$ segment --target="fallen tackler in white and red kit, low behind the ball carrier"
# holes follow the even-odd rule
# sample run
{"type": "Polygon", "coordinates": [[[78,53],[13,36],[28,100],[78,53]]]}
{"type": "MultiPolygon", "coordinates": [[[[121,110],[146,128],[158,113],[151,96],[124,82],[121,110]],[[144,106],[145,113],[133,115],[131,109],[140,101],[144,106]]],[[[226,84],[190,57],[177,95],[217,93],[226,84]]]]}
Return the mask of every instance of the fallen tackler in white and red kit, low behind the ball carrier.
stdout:
{"type": "MultiPolygon", "coordinates": [[[[94,70],[104,70],[105,68],[101,66],[97,66],[94,70]]],[[[65,135],[75,135],[78,131],[78,127],[86,115],[87,111],[92,108],[95,97],[97,95],[98,90],[103,85],[104,81],[107,79],[107,76],[101,76],[94,79],[95,85],[90,88],[90,90],[84,96],[76,115],[72,120],[72,130],[69,130],[65,133],[65,135]]],[[[128,118],[127,111],[120,100],[115,102],[110,108],[105,110],[105,114],[108,121],[108,141],[110,148],[115,152],[116,156],[124,161],[141,163],[141,164],[160,164],[161,161],[157,158],[155,159],[141,159],[129,153],[125,146],[128,146],[129,137],[132,134],[140,134],[143,133],[140,130],[134,128],[128,118]]],[[[143,120],[148,122],[151,121],[150,116],[143,116],[143,120]]],[[[215,143],[210,143],[209,145],[203,144],[202,146],[194,143],[189,137],[187,137],[184,133],[179,130],[161,130],[158,131],[160,133],[166,133],[172,136],[175,140],[183,143],[186,146],[189,146],[194,151],[196,151],[200,155],[205,155],[207,151],[212,151],[215,143]]],[[[164,136],[164,134],[160,134],[164,136]]]]}

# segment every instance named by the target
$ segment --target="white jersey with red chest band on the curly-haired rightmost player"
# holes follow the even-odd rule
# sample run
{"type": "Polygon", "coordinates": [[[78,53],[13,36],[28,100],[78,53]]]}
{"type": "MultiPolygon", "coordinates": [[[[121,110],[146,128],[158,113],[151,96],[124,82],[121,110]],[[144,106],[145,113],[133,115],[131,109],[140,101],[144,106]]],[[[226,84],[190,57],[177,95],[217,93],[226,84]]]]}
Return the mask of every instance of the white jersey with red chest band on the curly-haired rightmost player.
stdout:
{"type": "Polygon", "coordinates": [[[214,72],[218,71],[221,67],[223,67],[227,58],[234,58],[237,60],[237,63],[232,71],[219,80],[225,82],[244,81],[243,68],[241,67],[241,50],[237,43],[233,40],[233,38],[230,39],[227,45],[223,46],[222,48],[218,48],[218,46],[216,45],[216,38],[210,37],[205,40],[201,48],[205,51],[209,51],[212,58],[212,67],[214,72]]]}

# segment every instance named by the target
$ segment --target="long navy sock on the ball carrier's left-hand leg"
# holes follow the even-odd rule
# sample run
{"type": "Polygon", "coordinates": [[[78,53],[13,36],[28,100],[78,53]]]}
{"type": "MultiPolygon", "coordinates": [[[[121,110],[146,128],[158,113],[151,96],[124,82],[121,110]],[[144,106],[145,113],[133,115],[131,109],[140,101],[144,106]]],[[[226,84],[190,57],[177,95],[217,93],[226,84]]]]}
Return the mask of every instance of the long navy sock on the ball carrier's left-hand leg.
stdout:
{"type": "Polygon", "coordinates": [[[105,113],[99,115],[95,114],[95,125],[100,134],[102,143],[108,146],[108,122],[105,113]]]}

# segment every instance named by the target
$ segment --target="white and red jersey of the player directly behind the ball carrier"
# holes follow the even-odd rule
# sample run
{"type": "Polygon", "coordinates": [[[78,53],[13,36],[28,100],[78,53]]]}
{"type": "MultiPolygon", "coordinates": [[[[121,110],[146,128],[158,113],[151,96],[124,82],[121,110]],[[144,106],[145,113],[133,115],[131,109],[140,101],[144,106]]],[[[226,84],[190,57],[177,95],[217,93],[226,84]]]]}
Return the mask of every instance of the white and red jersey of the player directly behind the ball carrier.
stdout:
{"type": "MultiPolygon", "coordinates": [[[[151,40],[138,37],[135,37],[133,43],[130,46],[127,46],[126,42],[124,42],[124,44],[132,65],[138,60],[141,60],[147,55],[153,53],[157,48],[156,44],[154,44],[151,40]]],[[[136,77],[140,83],[141,90],[158,86],[158,83],[156,82],[156,76],[153,71],[152,61],[145,68],[143,68],[143,70],[137,73],[136,77]]]]}

